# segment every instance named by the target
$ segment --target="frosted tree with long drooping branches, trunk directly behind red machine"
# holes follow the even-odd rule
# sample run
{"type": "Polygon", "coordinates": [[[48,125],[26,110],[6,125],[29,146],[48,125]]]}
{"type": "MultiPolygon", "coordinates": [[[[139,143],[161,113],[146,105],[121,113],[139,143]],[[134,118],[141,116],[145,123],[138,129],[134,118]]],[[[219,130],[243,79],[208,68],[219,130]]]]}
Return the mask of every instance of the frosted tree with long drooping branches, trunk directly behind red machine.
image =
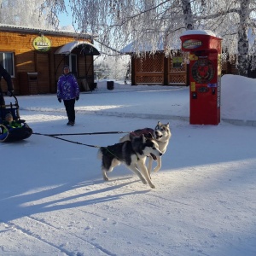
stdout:
{"type": "MultiPolygon", "coordinates": [[[[45,0],[44,4],[57,17],[65,1],[45,0]]],[[[137,53],[148,47],[154,52],[160,43],[170,53],[182,30],[194,26],[190,0],[70,0],[69,5],[73,26],[80,32],[90,32],[114,49],[134,41],[137,53]]]]}

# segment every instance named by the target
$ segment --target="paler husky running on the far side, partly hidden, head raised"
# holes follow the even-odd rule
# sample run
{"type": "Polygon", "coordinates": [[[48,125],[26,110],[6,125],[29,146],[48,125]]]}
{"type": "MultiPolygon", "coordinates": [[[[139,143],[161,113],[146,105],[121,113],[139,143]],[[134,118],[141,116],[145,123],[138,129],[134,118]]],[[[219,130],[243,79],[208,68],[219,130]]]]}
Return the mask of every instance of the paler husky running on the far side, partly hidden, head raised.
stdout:
{"type": "MultiPolygon", "coordinates": [[[[157,123],[155,126],[154,130],[152,128],[144,128],[144,129],[139,129],[136,131],[132,131],[129,134],[126,134],[124,137],[121,137],[119,139],[120,143],[123,143],[125,141],[131,141],[131,139],[135,136],[139,136],[141,134],[144,134],[145,137],[148,136],[148,134],[153,134],[154,142],[158,143],[158,148],[162,154],[166,153],[166,149],[168,146],[168,143],[172,137],[172,133],[169,127],[169,122],[164,125],[161,124],[160,121],[157,123]]],[[[152,170],[152,163],[153,163],[153,158],[149,156],[148,159],[148,175],[150,177],[150,173],[152,170]]],[[[161,167],[161,158],[157,158],[157,166],[154,167],[154,172],[158,172],[161,167]]]]}

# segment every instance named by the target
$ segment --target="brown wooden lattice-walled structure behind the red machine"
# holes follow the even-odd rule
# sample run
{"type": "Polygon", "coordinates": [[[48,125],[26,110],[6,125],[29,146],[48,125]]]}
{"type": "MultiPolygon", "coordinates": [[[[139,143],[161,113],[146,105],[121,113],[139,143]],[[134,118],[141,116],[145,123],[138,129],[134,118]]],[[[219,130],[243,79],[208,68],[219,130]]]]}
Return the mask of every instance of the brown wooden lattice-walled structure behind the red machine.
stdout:
{"type": "MultiPolygon", "coordinates": [[[[121,52],[131,55],[131,84],[160,84],[160,85],[185,85],[189,86],[189,64],[183,60],[180,50],[176,50],[173,56],[166,56],[164,50],[160,49],[150,54],[146,51],[138,56],[132,50],[133,44],[128,44],[121,52]]],[[[160,48],[162,48],[160,46],[160,48]]],[[[222,55],[222,74],[238,74],[236,58],[228,61],[227,54],[222,55]]],[[[256,70],[248,69],[248,78],[256,78],[256,70]]]]}

